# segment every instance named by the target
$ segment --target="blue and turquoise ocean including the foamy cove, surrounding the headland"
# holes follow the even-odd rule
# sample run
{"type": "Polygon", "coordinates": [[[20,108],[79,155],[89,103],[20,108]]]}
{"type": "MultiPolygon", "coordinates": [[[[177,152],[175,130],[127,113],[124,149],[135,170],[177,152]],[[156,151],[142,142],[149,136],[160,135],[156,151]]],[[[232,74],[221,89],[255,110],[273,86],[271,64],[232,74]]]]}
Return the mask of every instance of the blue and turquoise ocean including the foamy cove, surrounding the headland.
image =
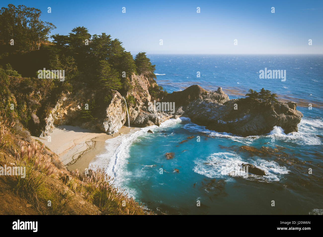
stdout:
{"type": "Polygon", "coordinates": [[[298,132],[275,127],[262,136],[237,137],[181,117],[107,140],[107,151],[93,165],[158,214],[323,213],[323,55],[148,56],[156,64],[157,83],[170,93],[199,84],[206,90],[222,87],[233,99],[264,87],[299,103],[304,117],[298,132]],[[259,79],[265,67],[286,70],[286,81],[259,79]],[[276,150],[254,154],[241,146],[276,150]],[[173,159],[166,159],[168,152],[173,159]],[[266,176],[239,172],[242,163],[266,176]]]}

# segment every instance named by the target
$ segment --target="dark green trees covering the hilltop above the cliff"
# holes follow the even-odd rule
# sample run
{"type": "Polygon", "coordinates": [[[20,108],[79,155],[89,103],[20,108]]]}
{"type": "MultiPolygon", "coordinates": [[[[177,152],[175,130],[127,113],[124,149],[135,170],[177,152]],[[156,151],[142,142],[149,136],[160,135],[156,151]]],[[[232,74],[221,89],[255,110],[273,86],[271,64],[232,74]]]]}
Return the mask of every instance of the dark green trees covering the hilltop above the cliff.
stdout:
{"type": "Polygon", "coordinates": [[[43,68],[65,70],[65,81],[54,81],[57,92],[85,85],[100,93],[113,89],[125,94],[132,88],[132,74],[156,78],[155,65],[146,53],[140,52],[134,59],[119,39],[112,39],[106,33],[91,35],[85,26],[75,27],[67,35],[50,35],[55,25],[43,22],[40,17],[41,11],[33,7],[9,4],[1,8],[0,64],[3,67],[10,63],[10,70],[24,77],[35,77],[43,68]],[[48,41],[49,37],[52,42],[48,41]],[[10,44],[11,39],[14,45],[10,44]]]}

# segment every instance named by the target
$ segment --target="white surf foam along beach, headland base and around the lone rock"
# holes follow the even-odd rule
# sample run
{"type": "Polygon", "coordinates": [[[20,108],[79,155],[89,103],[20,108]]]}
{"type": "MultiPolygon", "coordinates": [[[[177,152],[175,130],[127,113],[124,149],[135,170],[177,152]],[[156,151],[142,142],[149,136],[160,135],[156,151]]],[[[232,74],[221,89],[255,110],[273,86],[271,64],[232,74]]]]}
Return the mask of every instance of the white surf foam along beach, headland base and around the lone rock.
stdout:
{"type": "MultiPolygon", "coordinates": [[[[267,135],[261,136],[248,136],[248,137],[239,137],[234,136],[231,133],[218,133],[212,130],[208,130],[205,126],[200,126],[195,123],[191,123],[191,120],[187,117],[180,117],[177,119],[167,120],[158,127],[156,125],[152,125],[149,127],[141,128],[139,131],[131,132],[128,134],[124,134],[122,136],[118,136],[116,138],[112,138],[106,141],[107,151],[104,154],[100,154],[97,156],[95,160],[91,162],[91,164],[99,165],[101,168],[105,168],[106,172],[115,177],[115,184],[117,186],[122,186],[126,188],[126,183],[130,182],[130,177],[133,175],[137,177],[141,177],[146,175],[144,169],[141,169],[140,172],[133,174],[127,171],[126,164],[128,163],[129,150],[130,146],[135,141],[140,141],[139,137],[149,136],[147,131],[150,129],[154,133],[160,131],[166,127],[174,126],[176,123],[180,123],[181,121],[187,121],[188,123],[183,125],[183,129],[189,130],[190,132],[199,132],[205,133],[206,135],[214,136],[214,137],[223,137],[229,138],[232,141],[241,142],[244,144],[252,144],[256,139],[262,137],[268,137],[271,139],[272,137],[276,137],[278,139],[285,139],[287,142],[294,142],[298,144],[309,144],[316,145],[321,144],[319,137],[313,134],[313,130],[319,129],[323,127],[322,120],[309,120],[303,119],[299,124],[299,132],[297,133],[288,133],[285,134],[284,130],[281,127],[275,126],[273,130],[267,135]],[[108,163],[108,165],[107,165],[108,163]]],[[[315,133],[315,131],[314,131],[315,133]]],[[[172,135],[172,134],[171,134],[172,135]]],[[[268,139],[268,140],[269,140],[268,139]]],[[[252,163],[255,166],[263,169],[266,172],[266,176],[257,176],[257,175],[247,175],[243,172],[239,173],[239,176],[250,179],[257,180],[260,182],[273,182],[279,181],[280,177],[283,174],[288,173],[286,167],[279,166],[276,162],[273,161],[265,161],[261,158],[255,160],[243,160],[236,153],[213,153],[208,156],[207,160],[205,158],[194,161],[196,166],[193,171],[196,173],[200,173],[210,178],[214,177],[222,177],[227,174],[228,169],[238,171],[241,168],[242,163],[252,163]],[[209,163],[209,164],[203,164],[209,163]]],[[[233,179],[233,177],[229,177],[229,180],[233,179]]],[[[145,177],[147,179],[147,177],[145,177]]],[[[128,189],[127,192],[133,197],[136,196],[136,190],[128,189]]]]}

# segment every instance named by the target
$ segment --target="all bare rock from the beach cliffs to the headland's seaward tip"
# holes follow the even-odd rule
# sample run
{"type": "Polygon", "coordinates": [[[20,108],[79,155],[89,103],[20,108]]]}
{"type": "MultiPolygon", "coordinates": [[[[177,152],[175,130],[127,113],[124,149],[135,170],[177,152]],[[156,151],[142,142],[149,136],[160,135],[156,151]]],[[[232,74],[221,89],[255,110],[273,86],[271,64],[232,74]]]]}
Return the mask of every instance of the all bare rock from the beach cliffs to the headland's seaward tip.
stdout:
{"type": "MultiPolygon", "coordinates": [[[[130,77],[129,83],[130,89],[125,98],[130,124],[137,127],[159,125],[165,112],[170,112],[149,110],[149,102],[152,101],[149,88],[156,83],[135,74],[130,77]]],[[[63,94],[45,118],[41,135],[46,136],[56,126],[63,124],[116,133],[127,123],[126,104],[118,91],[112,90],[108,94],[109,103],[101,106],[95,119],[87,120],[81,118],[81,111],[85,106],[84,101],[94,100],[93,94],[84,91],[63,94]]],[[[175,114],[188,116],[194,123],[217,132],[240,136],[269,133],[274,126],[282,127],[285,133],[296,132],[303,116],[296,110],[297,104],[294,102],[278,101],[266,106],[259,102],[251,105],[245,98],[230,100],[221,87],[217,91],[207,92],[199,85],[192,85],[183,91],[164,94],[160,101],[174,102],[175,114]]],[[[37,117],[34,121],[37,121],[37,117]]]]}

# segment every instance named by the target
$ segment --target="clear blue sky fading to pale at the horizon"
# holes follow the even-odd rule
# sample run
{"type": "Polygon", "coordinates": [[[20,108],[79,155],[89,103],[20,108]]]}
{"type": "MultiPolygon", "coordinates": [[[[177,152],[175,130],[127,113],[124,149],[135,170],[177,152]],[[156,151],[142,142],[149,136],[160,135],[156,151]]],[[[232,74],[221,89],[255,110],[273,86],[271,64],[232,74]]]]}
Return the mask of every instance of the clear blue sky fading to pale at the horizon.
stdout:
{"type": "Polygon", "coordinates": [[[132,54],[323,53],[322,0],[2,0],[1,7],[9,3],[40,9],[41,19],[57,27],[51,34],[85,26],[92,35],[105,32],[120,39],[132,54]]]}

